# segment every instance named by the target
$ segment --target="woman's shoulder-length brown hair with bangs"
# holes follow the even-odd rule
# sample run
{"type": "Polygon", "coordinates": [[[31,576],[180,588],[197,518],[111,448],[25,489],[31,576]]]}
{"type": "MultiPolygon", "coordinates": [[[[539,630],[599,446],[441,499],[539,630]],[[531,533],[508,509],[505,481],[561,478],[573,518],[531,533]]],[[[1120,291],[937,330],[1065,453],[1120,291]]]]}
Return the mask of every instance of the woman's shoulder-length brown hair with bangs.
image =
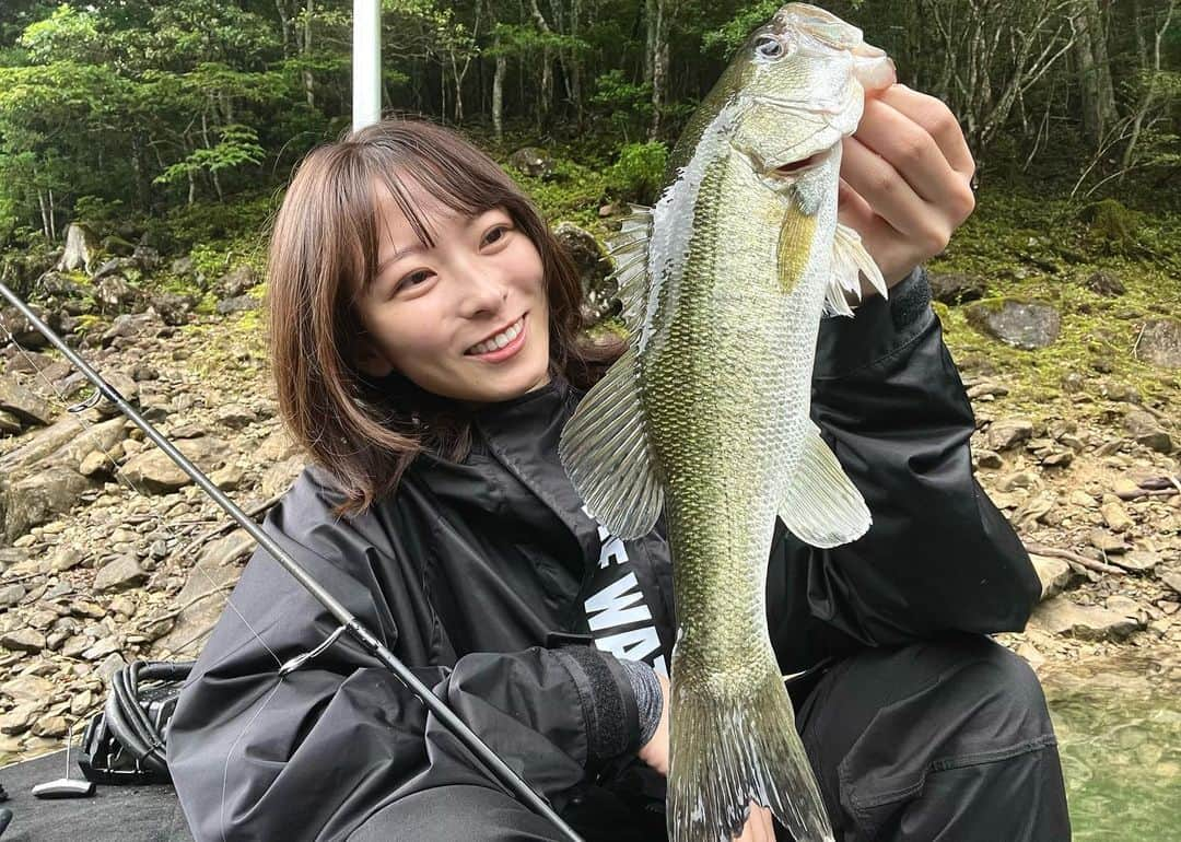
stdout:
{"type": "Polygon", "coordinates": [[[622,352],[582,335],[582,289],[570,257],[537,209],[487,155],[419,119],[385,119],[314,149],[275,218],[267,262],[270,361],[283,422],[328,470],[358,515],[392,492],[428,450],[459,461],[470,449],[470,409],[400,373],[367,379],[357,367],[361,321],[354,300],[373,280],[384,184],[415,234],[433,246],[399,172],[457,213],[503,207],[541,254],[549,305],[549,373],[587,389],[622,352]]]}

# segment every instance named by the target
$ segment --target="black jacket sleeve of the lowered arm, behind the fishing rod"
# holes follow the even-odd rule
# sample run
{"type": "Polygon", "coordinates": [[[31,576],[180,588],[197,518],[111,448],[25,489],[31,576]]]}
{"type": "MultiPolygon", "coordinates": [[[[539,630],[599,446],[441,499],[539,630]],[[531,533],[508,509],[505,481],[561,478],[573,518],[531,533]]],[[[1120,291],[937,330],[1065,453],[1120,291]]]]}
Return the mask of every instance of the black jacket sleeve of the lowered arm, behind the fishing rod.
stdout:
{"type": "MultiPolygon", "coordinates": [[[[426,601],[410,596],[416,568],[333,522],[307,477],[268,516],[268,533],[556,809],[594,764],[638,748],[627,675],[593,647],[433,662],[446,647],[426,601]]],[[[280,670],[335,628],[269,554],[255,553],[169,726],[169,768],[198,842],[345,838],[411,792],[497,786],[347,634],[280,670]]]]}

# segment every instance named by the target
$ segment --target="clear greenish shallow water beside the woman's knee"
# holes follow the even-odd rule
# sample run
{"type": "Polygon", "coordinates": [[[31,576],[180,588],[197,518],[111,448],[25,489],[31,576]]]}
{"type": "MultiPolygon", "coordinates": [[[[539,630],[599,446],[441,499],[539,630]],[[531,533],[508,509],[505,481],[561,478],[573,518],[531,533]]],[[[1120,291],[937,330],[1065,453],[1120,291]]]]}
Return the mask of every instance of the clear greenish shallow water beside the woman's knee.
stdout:
{"type": "Polygon", "coordinates": [[[1181,681],[1143,667],[1044,678],[1076,842],[1181,841],[1181,681]]]}

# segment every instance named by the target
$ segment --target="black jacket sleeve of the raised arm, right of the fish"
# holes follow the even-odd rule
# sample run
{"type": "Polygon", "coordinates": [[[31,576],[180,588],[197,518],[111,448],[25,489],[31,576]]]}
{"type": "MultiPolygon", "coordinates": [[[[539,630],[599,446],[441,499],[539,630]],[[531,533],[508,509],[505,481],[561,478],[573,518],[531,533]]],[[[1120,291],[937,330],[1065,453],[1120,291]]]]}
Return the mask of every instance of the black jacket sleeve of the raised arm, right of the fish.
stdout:
{"type": "Polygon", "coordinates": [[[921,269],[889,301],[822,324],[813,418],[873,526],[816,549],[776,522],[768,613],[784,672],[862,646],[1024,627],[1037,575],[973,477],[972,407],[921,269]]]}

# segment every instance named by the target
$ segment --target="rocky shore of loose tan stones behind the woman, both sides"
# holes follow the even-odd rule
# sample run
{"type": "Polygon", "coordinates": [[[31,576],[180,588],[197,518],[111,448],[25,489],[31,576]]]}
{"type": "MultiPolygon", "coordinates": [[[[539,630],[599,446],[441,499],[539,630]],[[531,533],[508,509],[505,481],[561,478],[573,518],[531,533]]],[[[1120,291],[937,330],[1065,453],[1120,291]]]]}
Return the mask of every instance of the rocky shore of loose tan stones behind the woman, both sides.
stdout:
{"type": "MultiPolygon", "coordinates": [[[[144,292],[139,279],[164,272],[150,249],[128,244],[99,260],[98,244],[72,236],[74,260],[67,248],[58,268],[34,267],[45,318],[261,515],[302,458],[276,418],[256,275],[227,273],[202,313],[195,296],[144,292]]],[[[170,278],[185,270],[167,267],[170,278]]],[[[1055,341],[1055,319],[1005,302],[968,315],[980,305],[965,280],[934,281],[977,415],[979,481],[1043,580],[1029,628],[1001,639],[1043,674],[1127,655],[1181,686],[1181,324],[1141,314],[1120,326],[1138,331],[1136,365],[1156,372],[1150,394],[1122,381],[1118,366],[1081,366],[1030,402],[978,350],[1038,354],[1055,341]]],[[[90,405],[92,393],[0,308],[0,763],[60,748],[120,665],[194,658],[253,550],[113,406],[90,405]]]]}

